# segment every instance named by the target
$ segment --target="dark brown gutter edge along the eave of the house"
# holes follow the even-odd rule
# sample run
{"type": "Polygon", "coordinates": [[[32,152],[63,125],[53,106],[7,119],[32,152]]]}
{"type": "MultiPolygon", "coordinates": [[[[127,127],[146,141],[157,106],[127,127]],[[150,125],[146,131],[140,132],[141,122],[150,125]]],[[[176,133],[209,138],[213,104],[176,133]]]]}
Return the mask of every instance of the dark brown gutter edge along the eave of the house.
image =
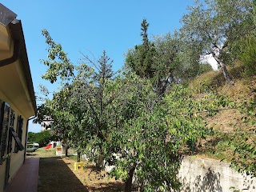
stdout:
{"type": "Polygon", "coordinates": [[[36,99],[34,95],[34,86],[33,86],[33,81],[31,77],[31,72],[30,72],[30,64],[29,60],[27,58],[27,53],[26,53],[26,43],[25,43],[25,38],[22,30],[22,22],[20,20],[14,19],[13,22],[10,22],[9,24],[12,38],[14,41],[19,41],[20,42],[20,61],[22,63],[22,69],[25,74],[26,78],[26,85],[29,90],[30,98],[32,102],[32,105],[34,107],[34,113],[37,113],[37,105],[36,105],[36,99]]]}

